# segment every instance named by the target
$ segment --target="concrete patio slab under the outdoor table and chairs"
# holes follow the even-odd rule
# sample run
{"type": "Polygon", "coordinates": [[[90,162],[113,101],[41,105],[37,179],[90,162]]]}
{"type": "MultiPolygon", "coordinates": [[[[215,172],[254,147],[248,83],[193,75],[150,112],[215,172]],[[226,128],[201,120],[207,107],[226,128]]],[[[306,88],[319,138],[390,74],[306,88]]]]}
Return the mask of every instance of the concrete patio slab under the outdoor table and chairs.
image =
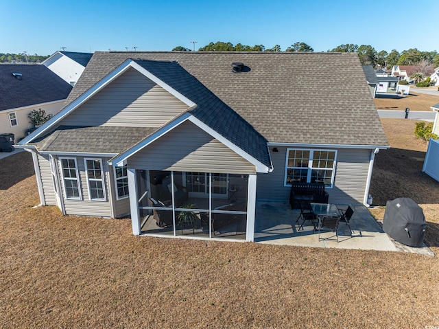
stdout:
{"type": "MultiPolygon", "coordinates": [[[[345,207],[346,205],[340,205],[345,207]]],[[[355,213],[351,218],[351,236],[344,222],[339,226],[339,242],[333,232],[325,232],[319,241],[318,232],[313,231],[313,226],[308,221],[303,230],[298,231],[294,225],[300,210],[292,210],[287,202],[258,202],[256,208],[256,223],[254,240],[260,243],[273,245],[294,245],[301,247],[322,247],[340,249],[370,249],[381,251],[408,251],[416,253],[431,253],[428,248],[406,247],[401,250],[397,243],[385,234],[379,223],[373,218],[364,205],[354,205],[355,213]],[[428,251],[425,251],[428,249],[428,251]]],[[[302,220],[300,220],[302,223],[302,220]]]]}

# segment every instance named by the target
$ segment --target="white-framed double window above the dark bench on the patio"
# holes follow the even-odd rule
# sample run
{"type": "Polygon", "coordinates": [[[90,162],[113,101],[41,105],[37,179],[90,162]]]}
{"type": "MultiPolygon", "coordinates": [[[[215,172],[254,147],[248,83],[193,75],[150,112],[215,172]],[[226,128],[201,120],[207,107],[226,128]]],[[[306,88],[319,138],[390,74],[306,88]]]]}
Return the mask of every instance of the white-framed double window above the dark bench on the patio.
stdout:
{"type": "Polygon", "coordinates": [[[288,149],[285,185],[293,182],[324,183],[332,188],[336,160],[336,150],[288,149]]]}

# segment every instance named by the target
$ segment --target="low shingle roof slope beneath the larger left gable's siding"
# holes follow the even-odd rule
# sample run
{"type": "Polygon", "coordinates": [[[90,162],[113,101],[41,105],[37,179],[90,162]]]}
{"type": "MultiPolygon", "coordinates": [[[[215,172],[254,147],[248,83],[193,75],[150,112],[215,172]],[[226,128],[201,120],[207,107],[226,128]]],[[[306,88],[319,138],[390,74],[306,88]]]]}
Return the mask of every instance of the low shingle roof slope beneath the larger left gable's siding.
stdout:
{"type": "Polygon", "coordinates": [[[41,151],[121,153],[156,131],[146,127],[59,126],[32,144],[41,151]]]}

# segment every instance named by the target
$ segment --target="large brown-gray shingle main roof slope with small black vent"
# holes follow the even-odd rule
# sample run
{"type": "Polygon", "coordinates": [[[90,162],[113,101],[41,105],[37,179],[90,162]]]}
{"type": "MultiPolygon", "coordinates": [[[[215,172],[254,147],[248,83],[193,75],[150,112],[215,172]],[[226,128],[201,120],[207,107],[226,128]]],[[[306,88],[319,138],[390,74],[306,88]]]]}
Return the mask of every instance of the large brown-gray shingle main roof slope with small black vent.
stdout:
{"type": "Polygon", "coordinates": [[[388,145],[357,54],[95,52],[67,103],[127,58],[175,60],[270,142],[388,145]]]}

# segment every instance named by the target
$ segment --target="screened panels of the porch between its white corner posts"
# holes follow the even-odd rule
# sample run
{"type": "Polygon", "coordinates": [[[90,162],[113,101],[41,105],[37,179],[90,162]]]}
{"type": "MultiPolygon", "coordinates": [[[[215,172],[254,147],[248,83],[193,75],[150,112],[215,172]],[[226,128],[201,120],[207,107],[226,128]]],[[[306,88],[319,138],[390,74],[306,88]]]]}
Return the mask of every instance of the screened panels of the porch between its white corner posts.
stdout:
{"type": "Polygon", "coordinates": [[[246,240],[248,174],[136,170],[140,234],[246,240]]]}

